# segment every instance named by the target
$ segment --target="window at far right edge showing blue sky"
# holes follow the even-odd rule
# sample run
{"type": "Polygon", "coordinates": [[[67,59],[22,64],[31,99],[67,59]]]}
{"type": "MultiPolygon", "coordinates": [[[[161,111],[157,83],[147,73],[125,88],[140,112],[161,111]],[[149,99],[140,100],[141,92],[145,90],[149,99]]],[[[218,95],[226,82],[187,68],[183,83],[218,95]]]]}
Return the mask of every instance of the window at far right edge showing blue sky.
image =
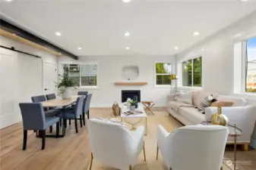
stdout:
{"type": "Polygon", "coordinates": [[[248,39],[246,45],[246,92],[256,93],[256,37],[248,39]]]}

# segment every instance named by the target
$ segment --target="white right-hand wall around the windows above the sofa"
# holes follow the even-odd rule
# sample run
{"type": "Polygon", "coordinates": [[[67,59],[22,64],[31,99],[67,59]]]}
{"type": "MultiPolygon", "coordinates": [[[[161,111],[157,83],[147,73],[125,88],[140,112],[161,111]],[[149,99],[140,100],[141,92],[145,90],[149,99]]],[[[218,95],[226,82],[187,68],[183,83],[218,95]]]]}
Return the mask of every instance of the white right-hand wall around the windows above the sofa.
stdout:
{"type": "MultiPolygon", "coordinates": [[[[202,55],[203,89],[219,94],[234,95],[234,45],[236,42],[253,36],[256,36],[256,12],[179,54],[176,57],[177,64],[191,57],[202,55]],[[204,51],[201,50],[202,48],[204,51]]],[[[256,96],[241,96],[245,97],[249,104],[256,104],[256,96]]],[[[256,148],[256,125],[251,145],[256,148]]]]}

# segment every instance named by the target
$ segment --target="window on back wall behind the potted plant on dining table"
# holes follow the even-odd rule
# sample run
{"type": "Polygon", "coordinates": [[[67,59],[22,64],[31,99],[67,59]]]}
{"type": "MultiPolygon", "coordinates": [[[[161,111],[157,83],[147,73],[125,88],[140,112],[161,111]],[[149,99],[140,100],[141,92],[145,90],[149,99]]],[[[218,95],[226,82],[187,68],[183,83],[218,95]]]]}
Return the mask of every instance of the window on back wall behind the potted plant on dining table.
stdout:
{"type": "Polygon", "coordinates": [[[80,86],[96,86],[97,76],[96,76],[96,65],[94,64],[65,64],[68,66],[68,77],[74,80],[77,85],[80,86]]]}

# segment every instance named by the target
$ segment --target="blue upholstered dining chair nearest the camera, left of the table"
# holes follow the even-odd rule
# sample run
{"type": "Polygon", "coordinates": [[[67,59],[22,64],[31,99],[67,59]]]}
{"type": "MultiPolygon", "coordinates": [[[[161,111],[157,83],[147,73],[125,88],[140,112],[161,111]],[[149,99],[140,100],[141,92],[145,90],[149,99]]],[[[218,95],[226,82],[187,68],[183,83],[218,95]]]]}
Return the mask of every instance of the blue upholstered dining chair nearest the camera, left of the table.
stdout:
{"type": "Polygon", "coordinates": [[[40,131],[42,150],[44,150],[46,146],[46,128],[56,124],[56,138],[58,138],[59,118],[46,116],[41,103],[21,103],[19,105],[24,129],[23,150],[26,150],[27,147],[27,131],[29,130],[40,131]]]}

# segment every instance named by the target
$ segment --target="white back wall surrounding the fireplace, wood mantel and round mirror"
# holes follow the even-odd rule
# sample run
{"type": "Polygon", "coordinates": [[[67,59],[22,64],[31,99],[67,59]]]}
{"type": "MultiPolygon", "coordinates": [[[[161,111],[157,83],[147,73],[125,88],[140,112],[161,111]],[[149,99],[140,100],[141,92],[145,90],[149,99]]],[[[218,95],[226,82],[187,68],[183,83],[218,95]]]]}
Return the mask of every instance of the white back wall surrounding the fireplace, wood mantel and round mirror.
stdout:
{"type": "MultiPolygon", "coordinates": [[[[66,63],[72,61],[66,57],[58,58],[58,63],[66,63]]],[[[74,60],[73,60],[74,61],[74,60]]],[[[141,90],[141,100],[153,100],[157,107],[166,106],[166,95],[170,91],[167,88],[154,87],[154,62],[166,61],[173,63],[175,70],[175,57],[172,56],[93,56],[80,57],[79,62],[98,62],[99,69],[99,88],[96,89],[81,89],[89,91],[93,94],[92,107],[112,107],[112,104],[117,101],[121,102],[122,90],[141,90]],[[131,82],[147,82],[148,85],[137,86],[119,86],[114,85],[114,82],[127,82],[121,73],[122,67],[126,64],[137,65],[139,67],[139,76],[131,82]]],[[[58,66],[58,68],[62,68],[58,66]]]]}

